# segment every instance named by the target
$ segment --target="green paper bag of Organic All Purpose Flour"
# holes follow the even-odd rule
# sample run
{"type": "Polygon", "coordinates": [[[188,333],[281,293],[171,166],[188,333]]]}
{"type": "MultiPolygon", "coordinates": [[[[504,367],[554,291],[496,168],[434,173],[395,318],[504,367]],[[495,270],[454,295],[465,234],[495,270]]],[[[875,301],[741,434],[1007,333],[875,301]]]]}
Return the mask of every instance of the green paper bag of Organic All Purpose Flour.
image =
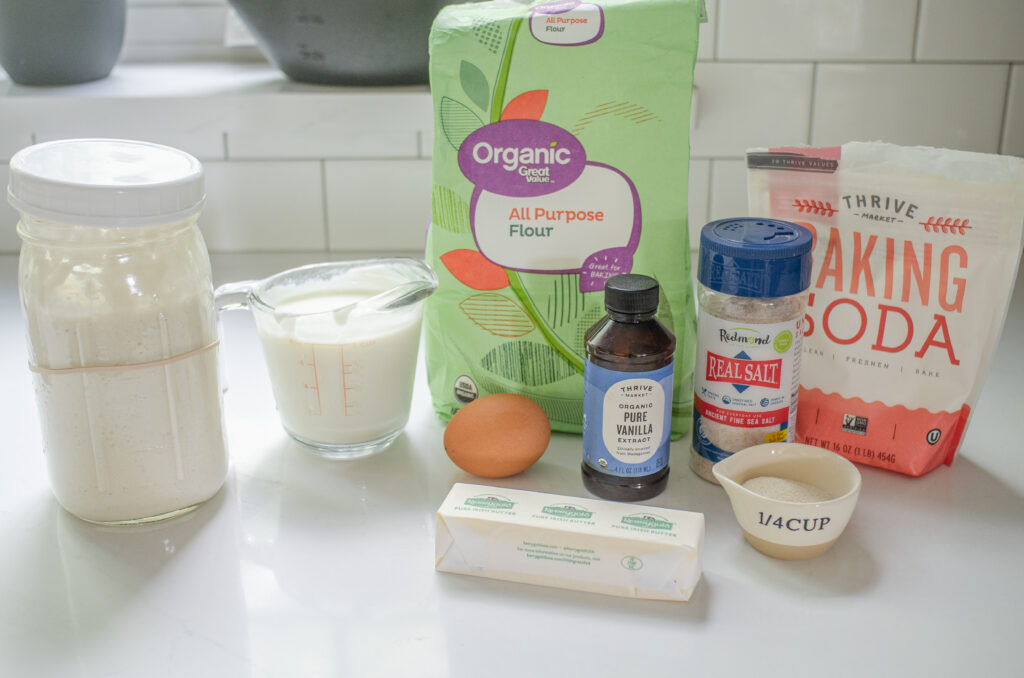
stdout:
{"type": "Polygon", "coordinates": [[[496,392],[583,425],[604,282],[657,280],[677,338],[673,437],[694,359],[686,187],[700,0],[451,5],[430,33],[427,375],[447,419],[496,392]]]}

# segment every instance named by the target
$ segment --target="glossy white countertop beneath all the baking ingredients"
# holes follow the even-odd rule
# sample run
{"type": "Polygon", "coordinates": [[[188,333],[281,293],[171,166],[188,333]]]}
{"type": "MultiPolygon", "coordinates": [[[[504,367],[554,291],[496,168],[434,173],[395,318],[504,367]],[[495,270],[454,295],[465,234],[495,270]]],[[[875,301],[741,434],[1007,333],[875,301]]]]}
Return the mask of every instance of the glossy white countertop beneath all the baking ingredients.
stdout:
{"type": "MultiPolygon", "coordinates": [[[[221,255],[218,283],[323,254],[221,255]]],[[[1024,276],[961,456],[922,478],[862,467],[825,555],[768,558],[724,493],[687,468],[648,504],[707,516],[686,603],[444,575],[434,511],[474,481],[441,446],[421,372],[406,433],[329,462],[278,422],[255,328],[223,316],[232,468],[191,514],[98,527],[50,494],[17,305],[0,256],[0,675],[1020,676],[1024,583],[1024,276]]],[[[580,438],[490,484],[586,496],[580,438]]],[[[479,480],[477,480],[479,481],[479,480]]]]}

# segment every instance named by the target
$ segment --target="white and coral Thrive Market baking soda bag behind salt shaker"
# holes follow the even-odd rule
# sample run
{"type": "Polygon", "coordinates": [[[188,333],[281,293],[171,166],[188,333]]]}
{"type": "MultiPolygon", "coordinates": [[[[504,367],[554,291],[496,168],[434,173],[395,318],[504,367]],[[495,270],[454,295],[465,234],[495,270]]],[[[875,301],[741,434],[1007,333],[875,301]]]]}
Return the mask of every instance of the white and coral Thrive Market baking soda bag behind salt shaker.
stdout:
{"type": "Polygon", "coordinates": [[[1024,160],[858,142],[748,168],[752,214],[815,236],[799,439],[910,475],[951,464],[1017,273],[1024,160]]]}

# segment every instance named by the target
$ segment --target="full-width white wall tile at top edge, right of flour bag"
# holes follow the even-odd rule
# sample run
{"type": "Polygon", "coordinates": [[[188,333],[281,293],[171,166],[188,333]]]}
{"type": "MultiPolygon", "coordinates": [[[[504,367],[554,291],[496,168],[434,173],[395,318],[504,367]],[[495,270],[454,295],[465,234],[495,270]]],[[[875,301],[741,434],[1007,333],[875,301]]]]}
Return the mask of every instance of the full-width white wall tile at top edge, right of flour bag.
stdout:
{"type": "Polygon", "coordinates": [[[719,0],[721,60],[909,60],[918,0],[719,0]]]}

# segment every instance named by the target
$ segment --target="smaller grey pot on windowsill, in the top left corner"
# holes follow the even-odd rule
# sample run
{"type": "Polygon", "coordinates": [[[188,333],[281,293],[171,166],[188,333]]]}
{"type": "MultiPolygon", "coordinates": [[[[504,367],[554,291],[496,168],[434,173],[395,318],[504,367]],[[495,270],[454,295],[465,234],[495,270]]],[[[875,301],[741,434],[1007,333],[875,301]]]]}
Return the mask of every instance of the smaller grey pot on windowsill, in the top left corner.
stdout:
{"type": "Polygon", "coordinates": [[[0,66],[23,85],[105,78],[124,37],[125,0],[0,0],[0,66]]]}

